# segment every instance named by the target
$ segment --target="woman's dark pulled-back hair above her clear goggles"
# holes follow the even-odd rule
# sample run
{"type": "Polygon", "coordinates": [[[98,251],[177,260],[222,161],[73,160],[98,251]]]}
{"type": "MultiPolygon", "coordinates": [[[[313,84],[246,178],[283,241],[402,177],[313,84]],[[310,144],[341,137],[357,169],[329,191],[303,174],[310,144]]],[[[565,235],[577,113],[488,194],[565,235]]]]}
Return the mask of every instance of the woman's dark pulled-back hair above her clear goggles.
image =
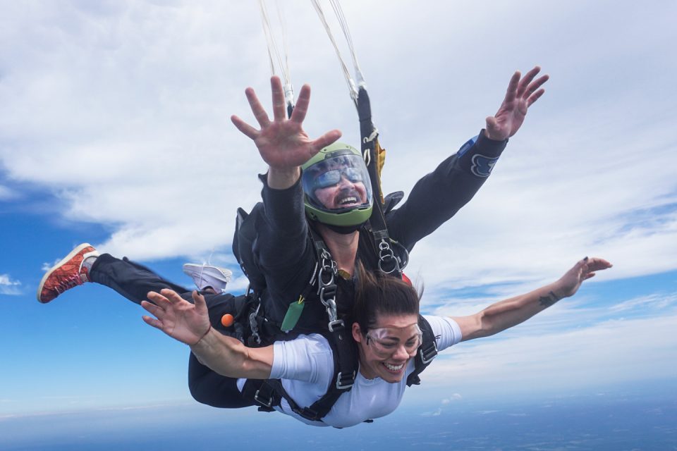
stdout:
{"type": "Polygon", "coordinates": [[[405,281],[357,266],[358,289],[355,292],[353,319],[362,335],[376,325],[378,315],[418,314],[421,292],[405,281]]]}

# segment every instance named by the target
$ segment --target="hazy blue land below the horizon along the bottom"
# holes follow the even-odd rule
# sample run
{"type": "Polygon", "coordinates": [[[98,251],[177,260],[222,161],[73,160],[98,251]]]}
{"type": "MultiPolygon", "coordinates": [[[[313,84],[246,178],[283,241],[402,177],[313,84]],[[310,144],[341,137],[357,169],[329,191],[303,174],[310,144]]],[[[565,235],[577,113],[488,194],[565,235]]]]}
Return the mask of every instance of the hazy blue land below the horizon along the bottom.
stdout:
{"type": "MultiPolygon", "coordinates": [[[[674,385],[674,383],[672,384],[674,385]]],[[[672,393],[675,393],[673,390],[672,393]]],[[[657,450],[677,445],[677,399],[645,400],[614,393],[585,400],[564,398],[535,403],[450,403],[417,411],[405,403],[397,412],[372,424],[353,428],[319,428],[300,424],[278,413],[253,408],[227,412],[195,406],[109,409],[89,414],[44,415],[41,419],[0,419],[4,450],[208,450],[215,443],[235,442],[250,450],[269,449],[258,431],[276,438],[281,450],[345,449],[376,443],[375,449],[657,450]],[[410,427],[417,419],[416,428],[410,427]],[[30,426],[28,426],[30,421],[30,426]],[[11,429],[10,429],[11,428],[11,429]]]]}

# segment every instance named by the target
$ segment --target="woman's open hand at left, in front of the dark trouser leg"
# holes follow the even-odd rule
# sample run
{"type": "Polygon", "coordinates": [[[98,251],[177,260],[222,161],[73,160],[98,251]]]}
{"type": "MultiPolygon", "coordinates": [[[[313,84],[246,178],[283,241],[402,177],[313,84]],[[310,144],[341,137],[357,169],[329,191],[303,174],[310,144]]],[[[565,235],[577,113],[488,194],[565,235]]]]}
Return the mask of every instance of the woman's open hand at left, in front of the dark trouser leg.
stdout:
{"type": "Polygon", "coordinates": [[[175,291],[167,289],[159,293],[149,292],[148,299],[152,303],[141,301],[141,307],[157,319],[142,316],[143,321],[162,330],[171,338],[192,346],[209,332],[211,324],[207,313],[207,303],[205,297],[197,291],[193,291],[195,304],[190,304],[175,291]]]}

